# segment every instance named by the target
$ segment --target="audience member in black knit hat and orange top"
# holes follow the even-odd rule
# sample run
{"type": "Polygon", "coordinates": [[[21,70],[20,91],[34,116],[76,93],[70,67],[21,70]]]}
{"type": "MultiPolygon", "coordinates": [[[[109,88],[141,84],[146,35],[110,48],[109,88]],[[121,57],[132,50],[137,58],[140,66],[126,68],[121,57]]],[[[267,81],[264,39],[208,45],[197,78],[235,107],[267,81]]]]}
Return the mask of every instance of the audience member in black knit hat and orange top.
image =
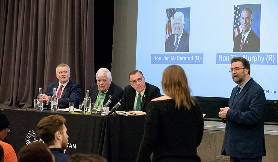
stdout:
{"type": "Polygon", "coordinates": [[[14,148],[3,140],[6,138],[8,132],[10,132],[10,119],[6,113],[0,109],[0,145],[4,150],[4,161],[17,162],[17,157],[14,148]]]}

